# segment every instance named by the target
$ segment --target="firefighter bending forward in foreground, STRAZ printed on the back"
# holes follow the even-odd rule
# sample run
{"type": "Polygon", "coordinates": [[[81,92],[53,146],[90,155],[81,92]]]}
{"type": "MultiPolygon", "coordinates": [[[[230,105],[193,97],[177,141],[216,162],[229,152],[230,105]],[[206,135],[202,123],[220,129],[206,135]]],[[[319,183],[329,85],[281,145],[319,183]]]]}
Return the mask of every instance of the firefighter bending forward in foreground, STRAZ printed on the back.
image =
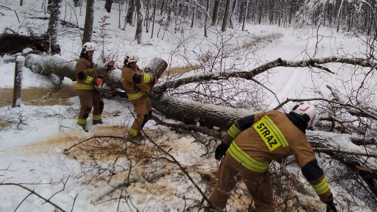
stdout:
{"type": "Polygon", "coordinates": [[[298,104],[289,114],[268,111],[237,120],[216,148],[216,160],[225,157],[216,173],[216,188],[209,197],[213,207],[205,209],[224,209],[230,192],[242,178],[254,197],[256,211],[274,211],[268,164],[294,155],[303,176],[327,204],[326,211],[336,212],[333,194],[305,135],[315,117],[314,106],[298,104]]]}

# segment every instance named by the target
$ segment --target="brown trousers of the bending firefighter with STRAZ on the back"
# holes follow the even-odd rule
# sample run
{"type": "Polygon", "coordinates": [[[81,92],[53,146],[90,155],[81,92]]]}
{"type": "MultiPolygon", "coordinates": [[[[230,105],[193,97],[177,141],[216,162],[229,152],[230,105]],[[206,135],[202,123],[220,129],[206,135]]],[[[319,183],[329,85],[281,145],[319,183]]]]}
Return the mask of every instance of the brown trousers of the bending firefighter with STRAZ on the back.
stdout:
{"type": "Polygon", "coordinates": [[[273,212],[274,201],[269,172],[257,173],[247,169],[228,152],[222,158],[216,173],[216,187],[209,200],[218,209],[224,209],[236,183],[243,180],[253,196],[256,212],[273,212]]]}

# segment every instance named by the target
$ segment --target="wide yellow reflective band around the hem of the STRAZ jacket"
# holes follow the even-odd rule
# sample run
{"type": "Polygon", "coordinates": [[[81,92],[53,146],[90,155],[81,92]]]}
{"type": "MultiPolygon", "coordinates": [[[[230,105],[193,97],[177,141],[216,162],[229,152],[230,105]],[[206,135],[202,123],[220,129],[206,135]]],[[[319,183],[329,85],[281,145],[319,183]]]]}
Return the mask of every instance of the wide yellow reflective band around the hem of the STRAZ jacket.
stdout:
{"type": "Polygon", "coordinates": [[[268,169],[267,163],[261,163],[250,157],[246,152],[242,151],[234,141],[230,144],[228,149],[230,155],[240,162],[243,166],[254,172],[265,172],[268,169]]]}

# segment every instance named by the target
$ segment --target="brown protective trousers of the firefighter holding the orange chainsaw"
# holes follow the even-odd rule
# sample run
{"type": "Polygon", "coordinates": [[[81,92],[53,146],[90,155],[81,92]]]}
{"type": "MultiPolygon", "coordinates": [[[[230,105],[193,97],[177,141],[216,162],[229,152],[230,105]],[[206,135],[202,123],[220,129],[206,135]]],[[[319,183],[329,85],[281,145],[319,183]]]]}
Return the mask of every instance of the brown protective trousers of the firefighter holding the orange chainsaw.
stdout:
{"type": "Polygon", "coordinates": [[[78,97],[80,98],[80,112],[78,114],[77,124],[81,126],[86,125],[86,119],[89,117],[93,106],[93,120],[101,120],[103,111],[103,101],[100,92],[95,89],[84,90],[76,89],[78,97]]]}

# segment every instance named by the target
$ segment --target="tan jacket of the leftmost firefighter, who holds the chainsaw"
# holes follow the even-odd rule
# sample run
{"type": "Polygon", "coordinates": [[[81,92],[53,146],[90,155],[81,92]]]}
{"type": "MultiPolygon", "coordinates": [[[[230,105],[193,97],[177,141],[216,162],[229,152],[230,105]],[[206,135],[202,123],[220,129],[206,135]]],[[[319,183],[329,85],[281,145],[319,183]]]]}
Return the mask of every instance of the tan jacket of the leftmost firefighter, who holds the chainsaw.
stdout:
{"type": "Polygon", "coordinates": [[[76,89],[92,90],[97,78],[94,65],[91,60],[81,57],[76,63],[76,89]]]}

